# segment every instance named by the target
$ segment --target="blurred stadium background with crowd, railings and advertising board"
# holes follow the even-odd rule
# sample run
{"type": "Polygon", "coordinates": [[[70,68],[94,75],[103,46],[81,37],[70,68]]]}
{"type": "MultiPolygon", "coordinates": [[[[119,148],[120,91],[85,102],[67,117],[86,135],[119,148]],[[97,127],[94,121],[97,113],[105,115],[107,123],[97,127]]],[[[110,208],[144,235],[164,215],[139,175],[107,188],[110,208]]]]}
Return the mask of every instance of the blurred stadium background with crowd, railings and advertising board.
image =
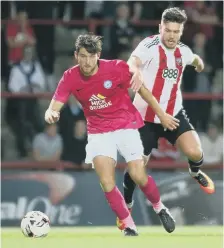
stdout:
{"type": "MultiPolygon", "coordinates": [[[[158,31],[168,6],[187,11],[182,41],[205,61],[201,74],[186,69],[182,89],[184,106],[202,139],[204,169],[217,191],[212,196],[200,191],[188,176],[186,159],[164,140],[153,152],[149,173],[178,225],[222,225],[223,2],[2,1],[2,226],[18,226],[33,209],[46,212],[57,226],[115,224],[94,171],[83,163],[86,125],[80,106],[71,99],[55,127],[45,126],[44,112],[63,71],[75,64],[79,34],[103,35],[102,57],[127,60],[142,38],[158,31]],[[10,38],[20,43],[12,45],[10,38]],[[39,81],[12,73],[15,62],[29,60],[34,52],[39,81]]],[[[125,164],[122,157],[119,161],[116,176],[121,187],[125,164]]],[[[141,192],[136,192],[135,201],[136,224],[158,225],[141,192]]]]}

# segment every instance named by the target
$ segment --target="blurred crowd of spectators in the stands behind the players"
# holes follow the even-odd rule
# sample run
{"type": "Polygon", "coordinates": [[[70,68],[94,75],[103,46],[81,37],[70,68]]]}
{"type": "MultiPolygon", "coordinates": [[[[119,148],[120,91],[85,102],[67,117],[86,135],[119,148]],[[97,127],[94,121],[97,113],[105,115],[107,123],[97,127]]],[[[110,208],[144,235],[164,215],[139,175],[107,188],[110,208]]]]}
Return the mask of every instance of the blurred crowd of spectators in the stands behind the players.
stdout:
{"type": "MultiPolygon", "coordinates": [[[[138,43],[158,33],[158,24],[136,25],[142,20],[159,21],[165,8],[186,10],[188,22],[182,42],[205,62],[204,72],[186,68],[182,89],[190,93],[223,92],[223,2],[214,1],[2,1],[1,89],[11,93],[53,92],[67,68],[75,64],[74,42],[86,25],[72,20],[113,20],[98,26],[104,36],[102,57],[127,60],[138,43]],[[51,25],[31,25],[29,20],[62,20],[51,25]]],[[[2,99],[2,160],[71,161],[85,165],[86,121],[80,105],[71,98],[57,125],[44,123],[49,100],[2,99]]],[[[220,163],[222,155],[223,101],[186,100],[191,123],[200,134],[205,163],[220,163]]],[[[161,139],[152,159],[182,160],[182,154],[161,139]]],[[[120,158],[122,160],[122,158],[120,158]]]]}

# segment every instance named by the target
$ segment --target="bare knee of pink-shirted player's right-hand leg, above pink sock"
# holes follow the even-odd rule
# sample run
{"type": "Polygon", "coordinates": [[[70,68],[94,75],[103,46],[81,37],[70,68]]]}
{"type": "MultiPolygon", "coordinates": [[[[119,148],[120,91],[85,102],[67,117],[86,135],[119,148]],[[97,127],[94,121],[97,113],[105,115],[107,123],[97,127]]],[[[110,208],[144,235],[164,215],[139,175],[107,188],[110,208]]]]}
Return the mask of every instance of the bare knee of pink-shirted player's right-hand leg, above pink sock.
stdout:
{"type": "Polygon", "coordinates": [[[139,186],[145,185],[148,180],[148,176],[145,170],[144,162],[129,162],[128,163],[128,171],[132,178],[132,180],[139,186]]]}

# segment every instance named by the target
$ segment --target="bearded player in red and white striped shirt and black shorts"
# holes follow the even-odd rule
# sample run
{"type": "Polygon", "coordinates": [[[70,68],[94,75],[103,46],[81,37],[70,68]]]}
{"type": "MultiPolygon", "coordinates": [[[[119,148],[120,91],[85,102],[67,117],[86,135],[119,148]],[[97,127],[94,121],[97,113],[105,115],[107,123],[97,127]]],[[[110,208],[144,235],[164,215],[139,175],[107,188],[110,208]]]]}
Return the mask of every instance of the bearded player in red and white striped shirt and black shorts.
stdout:
{"type": "MultiPolygon", "coordinates": [[[[135,95],[134,105],[145,122],[139,129],[144,155],[149,159],[152,149],[157,148],[158,139],[166,138],[188,158],[190,175],[199,183],[201,189],[212,194],[215,192],[214,183],[200,170],[203,164],[203,151],[198,134],[182,106],[180,86],[185,67],[192,65],[197,72],[204,69],[202,59],[180,42],[186,21],[184,10],[166,9],[162,14],[159,34],[141,41],[128,61],[131,69],[142,73],[145,87],[152,92],[163,111],[180,121],[179,127],[175,130],[164,129],[153,109],[138,93],[135,95]]],[[[123,185],[125,202],[131,210],[136,184],[128,171],[124,175],[123,185]]],[[[117,219],[117,225],[122,229],[122,221],[117,219]]]]}

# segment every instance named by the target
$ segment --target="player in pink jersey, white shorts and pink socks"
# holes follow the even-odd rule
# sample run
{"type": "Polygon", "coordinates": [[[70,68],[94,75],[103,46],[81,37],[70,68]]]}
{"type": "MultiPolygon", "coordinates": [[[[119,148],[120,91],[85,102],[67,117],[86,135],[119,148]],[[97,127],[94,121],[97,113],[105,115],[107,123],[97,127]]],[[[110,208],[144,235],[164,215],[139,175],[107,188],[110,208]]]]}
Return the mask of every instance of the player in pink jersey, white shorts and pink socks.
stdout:
{"type": "MultiPolygon", "coordinates": [[[[126,62],[99,59],[102,49],[100,37],[80,35],[75,46],[78,65],[64,72],[45,113],[45,121],[54,123],[59,120],[60,110],[71,94],[80,102],[88,128],[86,163],[94,166],[111,209],[122,220],[124,234],[136,236],[134,221],[115,184],[117,151],[125,158],[131,178],[155,209],[160,212],[166,208],[160,200],[155,181],[144,168],[143,146],[138,132],[144,123],[129,97],[130,83],[150,104],[164,128],[174,130],[179,121],[166,114],[143,85],[138,89],[137,73],[134,74],[134,83],[126,62]]],[[[164,225],[172,232],[175,222],[168,212],[165,215],[164,225]]]]}

